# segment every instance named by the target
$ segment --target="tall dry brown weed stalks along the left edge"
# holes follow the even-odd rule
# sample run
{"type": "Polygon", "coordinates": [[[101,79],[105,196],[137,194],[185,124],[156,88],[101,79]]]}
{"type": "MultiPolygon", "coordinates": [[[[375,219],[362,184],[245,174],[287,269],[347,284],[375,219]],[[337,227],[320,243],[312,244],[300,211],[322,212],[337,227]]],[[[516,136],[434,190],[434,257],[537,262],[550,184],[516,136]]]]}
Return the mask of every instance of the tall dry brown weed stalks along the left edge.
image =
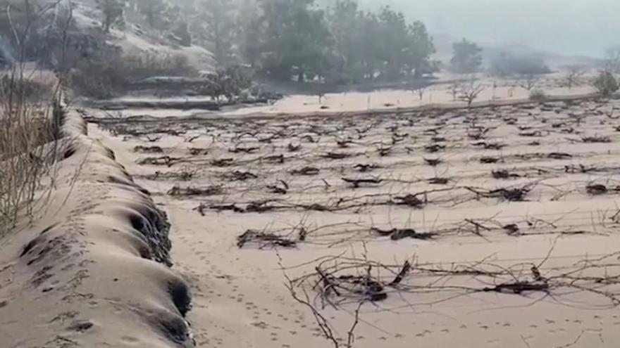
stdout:
{"type": "MultiPolygon", "coordinates": [[[[56,163],[63,155],[55,127],[64,116],[62,78],[48,85],[34,78],[36,70],[25,67],[30,34],[57,4],[39,6],[25,1],[18,10],[20,17],[10,22],[18,56],[10,70],[0,73],[0,238],[12,231],[23,215],[32,219],[37,203],[49,197],[56,163]]],[[[2,11],[12,18],[11,5],[2,11]]],[[[67,22],[71,19],[68,15],[67,22]]],[[[68,23],[60,28],[63,49],[67,28],[68,23]]]]}

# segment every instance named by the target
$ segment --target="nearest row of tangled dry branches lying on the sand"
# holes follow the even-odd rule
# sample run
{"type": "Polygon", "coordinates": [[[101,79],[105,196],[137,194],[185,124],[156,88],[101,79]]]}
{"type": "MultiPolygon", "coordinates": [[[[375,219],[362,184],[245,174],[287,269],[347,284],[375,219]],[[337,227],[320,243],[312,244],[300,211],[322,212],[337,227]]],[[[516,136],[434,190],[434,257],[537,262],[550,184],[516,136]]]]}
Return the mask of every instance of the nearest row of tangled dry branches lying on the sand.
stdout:
{"type": "MultiPolygon", "coordinates": [[[[554,246],[555,243],[538,263],[510,265],[492,262],[488,258],[450,266],[421,264],[416,259],[383,264],[366,257],[339,254],[306,263],[314,264],[314,271],[293,279],[292,285],[314,289],[323,306],[328,304],[335,308],[351,302],[380,302],[389,297],[398,299],[408,295],[435,294],[433,301],[444,302],[457,295],[485,292],[523,297],[538,293],[566,305],[570,305],[570,301],[563,297],[582,292],[593,296],[588,298],[595,302],[595,297],[606,299],[609,308],[620,305],[618,253],[581,259],[570,266],[547,266],[554,246]]],[[[595,302],[593,306],[600,305],[595,302]]]]}

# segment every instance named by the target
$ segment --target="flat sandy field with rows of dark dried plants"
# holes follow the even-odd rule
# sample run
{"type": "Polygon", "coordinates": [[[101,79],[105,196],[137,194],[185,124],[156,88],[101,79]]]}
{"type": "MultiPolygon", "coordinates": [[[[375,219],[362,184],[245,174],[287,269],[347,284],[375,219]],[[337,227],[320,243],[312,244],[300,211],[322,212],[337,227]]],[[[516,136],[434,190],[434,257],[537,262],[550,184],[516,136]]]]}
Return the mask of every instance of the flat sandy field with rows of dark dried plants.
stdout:
{"type": "MultiPolygon", "coordinates": [[[[620,271],[614,254],[620,242],[618,106],[590,101],[394,117],[121,121],[106,130],[92,124],[90,131],[168,213],[173,269],[192,286],[188,318],[199,347],[331,345],[311,311],[285,287],[278,254],[290,278],[313,273],[318,259],[336,255],[393,265],[392,272],[405,260],[416,265],[387,299],[364,302],[354,347],[614,347],[620,339],[620,286],[613,280],[620,271]],[[588,136],[605,142],[590,143],[588,136]],[[500,150],[492,148],[498,144],[500,150]],[[300,148],[291,152],[289,145],[300,148]],[[136,146],[161,153],[136,152],[136,146]],[[145,164],[157,157],[159,165],[145,164]],[[481,163],[483,157],[497,162],[481,163]],[[432,167],[425,159],[442,163],[432,167]],[[361,172],[356,165],[376,167],[361,172]],[[292,174],[303,167],[319,172],[292,174]],[[509,178],[492,176],[501,169],[509,178]],[[354,188],[342,178],[380,182],[354,188]],[[447,183],[430,183],[438,178],[447,183]],[[283,182],[287,192],[273,193],[283,182]],[[594,184],[607,192],[588,191],[594,184]],[[178,195],[170,191],[174,186],[221,191],[178,195]],[[498,188],[527,192],[516,201],[485,197],[498,188]],[[407,193],[423,203],[395,205],[407,193]],[[249,212],[257,202],[266,211],[249,212]],[[238,211],[218,211],[222,205],[238,211]],[[511,224],[517,233],[505,227],[511,224]],[[390,240],[373,228],[435,235],[390,240]],[[237,236],[248,229],[294,240],[297,247],[238,248],[237,236]],[[593,266],[584,267],[584,259],[593,266]],[[472,291],[532,281],[533,265],[556,282],[549,290],[472,291]],[[421,271],[474,266],[508,274],[421,271]],[[578,280],[566,280],[566,273],[578,280]]],[[[353,267],[337,275],[364,272],[353,267]]],[[[304,288],[346,339],[363,297],[332,294],[337,307],[323,308],[310,286],[317,279],[311,276],[297,291],[304,288]]]]}

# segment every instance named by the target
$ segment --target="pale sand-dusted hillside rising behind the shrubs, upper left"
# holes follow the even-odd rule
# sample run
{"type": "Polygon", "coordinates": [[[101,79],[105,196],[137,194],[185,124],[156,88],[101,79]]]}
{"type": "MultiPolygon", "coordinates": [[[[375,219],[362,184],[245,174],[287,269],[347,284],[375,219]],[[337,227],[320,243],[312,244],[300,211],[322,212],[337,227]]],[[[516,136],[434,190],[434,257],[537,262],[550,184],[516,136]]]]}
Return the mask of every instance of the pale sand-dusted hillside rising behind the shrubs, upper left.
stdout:
{"type": "MultiPolygon", "coordinates": [[[[78,0],[70,4],[69,6],[65,1],[39,2],[37,6],[46,8],[46,11],[42,11],[32,28],[23,30],[24,34],[21,36],[25,39],[16,39],[6,13],[0,15],[0,38],[5,38],[0,40],[0,63],[19,59],[18,41],[25,41],[27,50],[22,60],[34,61],[40,67],[56,69],[61,65],[63,56],[64,59],[74,58],[73,55],[75,58],[92,58],[107,47],[130,56],[145,53],[156,53],[160,56],[181,55],[187,57],[197,70],[214,69],[216,62],[209,50],[197,45],[184,45],[172,30],[150,28],[144,25],[140,16],[132,15],[129,10],[123,17],[123,25],[114,25],[109,32],[104,32],[104,14],[97,1],[78,0]],[[63,46],[63,40],[66,40],[66,49],[61,52],[58,46],[63,46]]],[[[34,13],[30,11],[29,14],[23,7],[18,7],[15,11],[14,16],[18,18],[16,22],[34,13]]],[[[18,32],[23,29],[19,26],[20,22],[16,24],[18,32]]]]}

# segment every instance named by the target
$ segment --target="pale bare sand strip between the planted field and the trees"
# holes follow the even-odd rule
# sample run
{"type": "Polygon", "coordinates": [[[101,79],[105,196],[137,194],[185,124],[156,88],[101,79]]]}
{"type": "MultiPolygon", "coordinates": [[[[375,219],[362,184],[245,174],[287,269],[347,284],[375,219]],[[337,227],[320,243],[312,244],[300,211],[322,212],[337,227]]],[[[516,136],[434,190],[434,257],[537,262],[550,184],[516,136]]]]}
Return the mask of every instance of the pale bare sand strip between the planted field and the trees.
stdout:
{"type": "MultiPolygon", "coordinates": [[[[442,79],[466,79],[464,76],[449,76],[442,79]]],[[[589,76],[587,78],[590,78],[589,76]]],[[[587,79],[584,77],[584,79],[587,79]]],[[[516,101],[527,101],[530,92],[519,86],[523,84],[523,80],[519,79],[490,79],[481,77],[477,80],[484,87],[484,90],[478,96],[475,104],[478,103],[508,103],[516,101]],[[494,87],[495,86],[495,87],[494,87]]],[[[441,82],[433,86],[429,86],[423,91],[420,98],[417,91],[406,91],[402,89],[385,89],[371,92],[348,92],[340,94],[326,94],[319,101],[316,95],[292,94],[285,96],[280,101],[276,101],[273,105],[256,105],[241,107],[226,107],[223,112],[211,112],[205,110],[173,110],[166,109],[148,109],[148,108],[127,108],[125,110],[90,110],[89,117],[132,117],[132,116],[150,116],[150,117],[215,117],[215,116],[249,116],[249,115],[291,115],[300,113],[317,113],[317,114],[335,114],[339,112],[357,112],[368,110],[397,110],[406,108],[417,108],[426,105],[464,106],[464,101],[454,100],[454,96],[450,92],[451,84],[441,82]]],[[[553,97],[569,97],[583,96],[592,94],[595,89],[583,83],[581,86],[573,86],[571,89],[565,86],[562,73],[549,75],[536,84],[536,89],[543,89],[547,96],[553,97]]],[[[124,96],[113,99],[111,103],[131,103],[144,102],[149,103],[183,103],[195,101],[210,101],[210,98],[187,96],[187,97],[170,97],[170,98],[153,98],[145,96],[124,96]]],[[[108,101],[106,101],[108,103],[108,101]]]]}

